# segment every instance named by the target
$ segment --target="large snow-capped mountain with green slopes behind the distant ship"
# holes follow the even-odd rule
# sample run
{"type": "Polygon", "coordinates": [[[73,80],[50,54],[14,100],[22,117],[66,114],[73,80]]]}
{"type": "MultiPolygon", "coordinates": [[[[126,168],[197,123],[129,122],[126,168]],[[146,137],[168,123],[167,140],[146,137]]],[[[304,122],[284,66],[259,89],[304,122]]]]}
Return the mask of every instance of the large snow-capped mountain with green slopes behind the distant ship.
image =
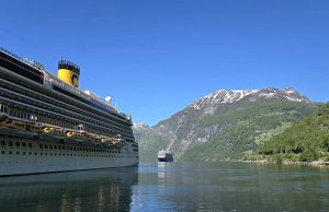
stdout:
{"type": "Polygon", "coordinates": [[[164,148],[181,161],[241,160],[317,109],[318,104],[294,89],[219,90],[151,128],[136,126],[134,131],[140,158],[154,160],[164,148]]]}

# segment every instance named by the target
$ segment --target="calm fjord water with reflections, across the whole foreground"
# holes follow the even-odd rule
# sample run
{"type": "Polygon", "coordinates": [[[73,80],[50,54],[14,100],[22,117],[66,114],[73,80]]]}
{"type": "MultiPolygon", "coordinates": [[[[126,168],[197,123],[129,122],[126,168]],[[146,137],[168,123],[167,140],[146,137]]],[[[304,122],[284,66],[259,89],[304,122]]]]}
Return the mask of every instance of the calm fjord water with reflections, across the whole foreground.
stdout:
{"type": "Polygon", "coordinates": [[[0,211],[328,210],[328,167],[157,163],[0,178],[0,211]]]}

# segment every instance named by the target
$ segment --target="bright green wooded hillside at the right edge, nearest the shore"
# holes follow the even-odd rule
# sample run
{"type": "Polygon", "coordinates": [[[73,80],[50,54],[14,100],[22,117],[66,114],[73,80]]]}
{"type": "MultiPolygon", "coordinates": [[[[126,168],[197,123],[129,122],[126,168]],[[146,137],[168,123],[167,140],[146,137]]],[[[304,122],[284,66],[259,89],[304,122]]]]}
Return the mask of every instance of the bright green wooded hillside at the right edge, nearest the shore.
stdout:
{"type": "Polygon", "coordinates": [[[277,162],[329,161],[329,104],[264,142],[260,154],[277,162]]]}

